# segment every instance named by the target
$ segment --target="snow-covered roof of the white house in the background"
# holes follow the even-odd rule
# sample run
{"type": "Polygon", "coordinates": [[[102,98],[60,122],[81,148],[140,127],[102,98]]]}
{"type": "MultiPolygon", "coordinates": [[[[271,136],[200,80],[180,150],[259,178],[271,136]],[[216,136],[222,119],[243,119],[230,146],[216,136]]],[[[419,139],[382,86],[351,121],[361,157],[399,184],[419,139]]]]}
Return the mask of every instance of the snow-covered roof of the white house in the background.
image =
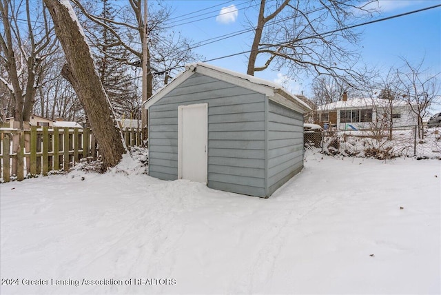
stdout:
{"type": "MultiPolygon", "coordinates": [[[[389,105],[387,99],[376,99],[376,98],[358,98],[349,99],[347,101],[335,101],[334,103],[327,103],[326,105],[320,105],[318,111],[329,111],[329,110],[344,110],[344,109],[363,109],[363,108],[386,108],[389,105]]],[[[393,101],[393,107],[406,106],[405,101],[393,101]]]]}

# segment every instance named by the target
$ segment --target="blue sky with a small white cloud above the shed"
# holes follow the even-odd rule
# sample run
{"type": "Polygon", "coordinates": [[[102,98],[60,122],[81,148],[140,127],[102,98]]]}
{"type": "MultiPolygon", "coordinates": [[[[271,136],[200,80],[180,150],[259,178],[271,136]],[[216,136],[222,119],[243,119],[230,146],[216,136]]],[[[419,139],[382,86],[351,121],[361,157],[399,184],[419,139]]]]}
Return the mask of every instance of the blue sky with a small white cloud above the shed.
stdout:
{"type": "MultiPolygon", "coordinates": [[[[255,1],[255,3],[258,2],[260,1],[255,1]]],[[[151,0],[149,3],[152,3],[151,0]]],[[[440,3],[439,0],[380,0],[378,5],[383,12],[377,18],[435,6],[440,3]]],[[[154,5],[154,3],[152,4],[154,5]]],[[[245,6],[250,5],[249,1],[167,1],[167,4],[174,10],[172,17],[187,14],[185,17],[172,19],[175,25],[174,29],[181,30],[183,35],[193,39],[195,43],[244,30],[247,19],[251,22],[256,21],[257,8],[245,9],[245,6]],[[224,18],[218,15],[221,9],[231,5],[236,6],[236,12],[223,14],[224,18]],[[216,7],[210,8],[212,6],[216,7]],[[205,8],[209,9],[204,10],[205,8]],[[189,14],[198,10],[202,11],[189,14]],[[195,17],[200,14],[204,15],[195,17]],[[207,19],[195,21],[202,18],[207,19]],[[189,21],[192,21],[192,23],[182,24],[189,21]]],[[[441,8],[362,26],[359,31],[363,32],[359,44],[363,63],[387,72],[392,66],[402,64],[400,57],[416,63],[424,58],[424,68],[430,68],[432,72],[441,72],[441,8]]],[[[240,34],[238,37],[196,48],[195,51],[202,54],[207,60],[223,57],[249,50],[252,37],[251,33],[240,34]]],[[[209,63],[229,70],[246,72],[247,54],[210,61],[209,63]]],[[[280,77],[283,77],[283,74],[283,72],[274,72],[269,69],[264,72],[257,72],[256,76],[280,82],[280,77]]],[[[310,79],[300,80],[290,80],[285,84],[285,87],[293,93],[303,91],[305,94],[310,94],[310,79]]]]}

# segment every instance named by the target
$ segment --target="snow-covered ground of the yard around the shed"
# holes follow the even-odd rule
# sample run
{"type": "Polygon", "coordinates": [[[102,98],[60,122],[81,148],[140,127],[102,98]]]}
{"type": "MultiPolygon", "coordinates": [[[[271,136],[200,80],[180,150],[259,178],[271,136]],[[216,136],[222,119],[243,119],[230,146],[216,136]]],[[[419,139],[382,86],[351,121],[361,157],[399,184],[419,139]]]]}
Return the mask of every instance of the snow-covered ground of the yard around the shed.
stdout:
{"type": "Polygon", "coordinates": [[[441,161],[308,151],[269,199],[140,171],[1,184],[0,293],[441,292],[441,161]]]}

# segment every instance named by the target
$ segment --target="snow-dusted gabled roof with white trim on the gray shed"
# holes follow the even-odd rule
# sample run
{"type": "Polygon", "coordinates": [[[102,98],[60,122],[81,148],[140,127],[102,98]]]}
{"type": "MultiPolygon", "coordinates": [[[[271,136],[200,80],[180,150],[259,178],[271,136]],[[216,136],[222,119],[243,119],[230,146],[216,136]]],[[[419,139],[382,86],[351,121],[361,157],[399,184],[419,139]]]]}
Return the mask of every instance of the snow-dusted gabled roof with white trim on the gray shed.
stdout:
{"type": "Polygon", "coordinates": [[[190,63],[185,65],[185,71],[178,74],[178,76],[176,76],[176,78],[170,84],[165,85],[164,88],[145,101],[144,108],[149,108],[150,105],[153,105],[162,99],[166,94],[174,90],[174,88],[183,83],[196,72],[265,94],[272,101],[285,105],[285,107],[298,112],[304,113],[311,110],[307,103],[301,101],[294,94],[289,93],[282,86],[276,83],[247,74],[226,70],[224,68],[218,68],[214,65],[208,65],[207,63],[190,63]]]}

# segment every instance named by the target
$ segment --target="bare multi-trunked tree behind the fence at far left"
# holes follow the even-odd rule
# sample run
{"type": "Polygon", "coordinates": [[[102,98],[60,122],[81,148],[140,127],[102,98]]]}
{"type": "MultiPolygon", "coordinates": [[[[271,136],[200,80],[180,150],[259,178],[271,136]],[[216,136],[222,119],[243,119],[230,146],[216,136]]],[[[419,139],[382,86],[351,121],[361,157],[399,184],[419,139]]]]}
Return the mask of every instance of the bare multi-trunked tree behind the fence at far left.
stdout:
{"type": "Polygon", "coordinates": [[[31,8],[30,0],[1,0],[0,11],[4,29],[0,34],[0,61],[7,72],[6,77],[0,77],[0,83],[14,98],[14,121],[23,129],[23,121],[29,121],[34,107],[35,92],[41,86],[42,64],[57,48],[57,41],[46,10],[41,6],[31,8]],[[20,24],[21,18],[25,19],[25,26],[20,24]]]}

